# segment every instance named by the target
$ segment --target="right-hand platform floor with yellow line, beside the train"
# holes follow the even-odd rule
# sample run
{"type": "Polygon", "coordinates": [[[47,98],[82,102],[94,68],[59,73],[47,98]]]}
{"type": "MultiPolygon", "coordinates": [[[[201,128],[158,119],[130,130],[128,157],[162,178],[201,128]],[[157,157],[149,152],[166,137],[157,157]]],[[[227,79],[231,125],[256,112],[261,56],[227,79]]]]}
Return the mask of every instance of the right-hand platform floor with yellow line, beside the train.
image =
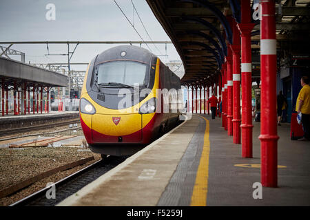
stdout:
{"type": "Polygon", "coordinates": [[[278,188],[260,182],[260,123],[254,123],[254,158],[221,127],[221,119],[194,115],[58,206],[309,206],[309,142],[292,141],[278,127],[278,188]]]}

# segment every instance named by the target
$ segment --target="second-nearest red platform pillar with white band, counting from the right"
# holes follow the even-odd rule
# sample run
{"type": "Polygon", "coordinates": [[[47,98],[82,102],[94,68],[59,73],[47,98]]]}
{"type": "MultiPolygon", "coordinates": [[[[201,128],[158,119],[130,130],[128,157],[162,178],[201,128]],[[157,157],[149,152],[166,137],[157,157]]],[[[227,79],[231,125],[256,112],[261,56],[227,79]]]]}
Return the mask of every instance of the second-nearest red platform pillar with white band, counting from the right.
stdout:
{"type": "Polygon", "coordinates": [[[241,23],[238,29],[241,34],[241,87],[242,87],[242,116],[241,144],[242,157],[253,157],[253,125],[252,125],[252,61],[251,61],[251,5],[248,0],[241,0],[241,23]]]}

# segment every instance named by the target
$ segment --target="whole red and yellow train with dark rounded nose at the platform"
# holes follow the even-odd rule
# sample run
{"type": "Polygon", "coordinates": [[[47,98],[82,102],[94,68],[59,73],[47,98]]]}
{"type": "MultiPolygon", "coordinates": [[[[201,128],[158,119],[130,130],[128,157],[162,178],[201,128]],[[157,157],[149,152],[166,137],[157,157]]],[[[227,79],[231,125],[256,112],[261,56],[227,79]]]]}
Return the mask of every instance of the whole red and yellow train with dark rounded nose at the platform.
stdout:
{"type": "Polygon", "coordinates": [[[88,146],[102,157],[132,155],[176,126],[180,78],[143,47],[105,50],[87,67],[79,114],[88,146]]]}

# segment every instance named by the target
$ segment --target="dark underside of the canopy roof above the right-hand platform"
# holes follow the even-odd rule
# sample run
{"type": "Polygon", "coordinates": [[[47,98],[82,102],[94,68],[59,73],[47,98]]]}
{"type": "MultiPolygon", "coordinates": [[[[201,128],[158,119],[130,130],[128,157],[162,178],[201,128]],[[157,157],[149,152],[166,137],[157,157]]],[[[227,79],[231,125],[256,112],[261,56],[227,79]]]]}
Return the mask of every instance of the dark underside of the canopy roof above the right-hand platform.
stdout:
{"type": "MultiPolygon", "coordinates": [[[[310,0],[276,1],[278,58],[293,54],[309,56],[309,2],[310,0]]],[[[240,23],[240,1],[147,0],[147,3],[183,61],[185,75],[181,79],[182,85],[201,81],[218,82],[222,63],[227,56],[227,42],[232,43],[227,18],[232,17],[240,23]]],[[[257,9],[255,3],[256,1],[251,1],[251,14],[257,9]]],[[[259,80],[260,20],[254,19],[252,22],[256,25],[251,32],[252,79],[259,80]]],[[[278,62],[279,67],[279,59],[278,62]]]]}

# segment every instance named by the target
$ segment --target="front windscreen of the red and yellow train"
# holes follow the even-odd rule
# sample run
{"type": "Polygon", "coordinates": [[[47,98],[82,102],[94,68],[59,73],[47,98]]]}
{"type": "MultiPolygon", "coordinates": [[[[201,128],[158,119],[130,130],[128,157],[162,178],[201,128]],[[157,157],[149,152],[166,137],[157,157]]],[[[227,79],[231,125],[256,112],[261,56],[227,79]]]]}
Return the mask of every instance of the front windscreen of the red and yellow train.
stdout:
{"type": "Polygon", "coordinates": [[[147,65],[134,61],[112,61],[97,66],[98,84],[148,85],[147,65]]]}

